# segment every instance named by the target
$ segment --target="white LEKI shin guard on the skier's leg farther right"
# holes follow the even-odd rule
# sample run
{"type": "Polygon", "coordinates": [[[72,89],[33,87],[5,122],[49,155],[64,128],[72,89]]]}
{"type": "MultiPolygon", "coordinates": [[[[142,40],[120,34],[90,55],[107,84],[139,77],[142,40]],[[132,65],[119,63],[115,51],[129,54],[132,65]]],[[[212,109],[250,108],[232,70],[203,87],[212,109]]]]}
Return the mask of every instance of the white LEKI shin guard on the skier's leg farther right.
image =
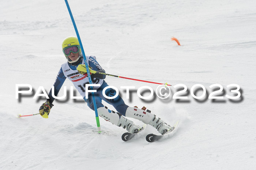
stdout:
{"type": "Polygon", "coordinates": [[[151,114],[150,112],[144,111],[136,107],[128,107],[125,112],[125,116],[129,118],[141,120],[143,123],[146,123],[146,124],[148,124],[150,120],[154,118],[154,115],[151,114]]]}

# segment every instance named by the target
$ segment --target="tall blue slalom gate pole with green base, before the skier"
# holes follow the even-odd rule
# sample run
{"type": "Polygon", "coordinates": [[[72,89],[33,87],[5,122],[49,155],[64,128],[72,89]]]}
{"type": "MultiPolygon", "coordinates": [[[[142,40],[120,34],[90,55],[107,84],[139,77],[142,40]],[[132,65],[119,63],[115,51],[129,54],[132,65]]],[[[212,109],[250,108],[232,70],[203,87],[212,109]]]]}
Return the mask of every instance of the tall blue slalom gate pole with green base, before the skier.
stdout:
{"type": "MultiPolygon", "coordinates": [[[[89,78],[89,83],[90,84],[93,84],[91,82],[91,74],[90,74],[90,70],[89,70],[89,67],[88,67],[88,63],[87,63],[87,59],[86,59],[86,56],[84,54],[84,50],[83,50],[83,45],[82,45],[82,41],[80,39],[80,36],[79,36],[79,33],[78,33],[78,29],[76,27],[76,23],[75,23],[75,20],[74,20],[74,17],[72,15],[72,12],[71,12],[71,9],[69,7],[69,4],[68,4],[68,0],[65,0],[65,3],[67,5],[67,8],[68,8],[68,12],[69,12],[69,15],[71,17],[71,20],[72,20],[72,23],[74,25],[74,28],[75,28],[75,31],[76,31],[76,36],[78,38],[78,41],[79,41],[79,44],[80,44],[80,48],[82,50],[82,54],[83,54],[83,59],[84,59],[84,63],[85,63],[85,67],[86,67],[86,70],[87,70],[87,73],[88,73],[88,78],[89,78]]],[[[87,90],[87,89],[86,89],[87,90]]],[[[91,90],[93,90],[93,87],[91,86],[91,90]]],[[[97,127],[98,127],[98,132],[101,132],[101,125],[99,124],[99,116],[98,116],[98,111],[97,111],[97,106],[96,106],[96,100],[95,100],[95,97],[94,97],[94,92],[91,92],[91,94],[93,95],[93,105],[94,105],[94,110],[95,110],[95,116],[96,116],[96,122],[97,122],[97,127]]]]}

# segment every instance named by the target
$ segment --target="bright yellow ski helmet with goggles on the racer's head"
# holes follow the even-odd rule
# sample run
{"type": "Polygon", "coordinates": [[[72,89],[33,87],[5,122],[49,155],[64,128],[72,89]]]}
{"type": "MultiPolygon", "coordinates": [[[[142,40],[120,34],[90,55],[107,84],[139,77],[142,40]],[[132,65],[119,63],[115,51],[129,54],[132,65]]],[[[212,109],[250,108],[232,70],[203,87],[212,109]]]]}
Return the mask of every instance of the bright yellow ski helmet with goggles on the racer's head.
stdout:
{"type": "Polygon", "coordinates": [[[68,60],[68,63],[70,63],[72,66],[75,66],[76,64],[80,63],[80,61],[83,58],[78,38],[75,36],[69,36],[63,40],[62,51],[66,59],[68,60]],[[78,53],[79,57],[75,61],[72,61],[68,58],[70,52],[78,53]]]}

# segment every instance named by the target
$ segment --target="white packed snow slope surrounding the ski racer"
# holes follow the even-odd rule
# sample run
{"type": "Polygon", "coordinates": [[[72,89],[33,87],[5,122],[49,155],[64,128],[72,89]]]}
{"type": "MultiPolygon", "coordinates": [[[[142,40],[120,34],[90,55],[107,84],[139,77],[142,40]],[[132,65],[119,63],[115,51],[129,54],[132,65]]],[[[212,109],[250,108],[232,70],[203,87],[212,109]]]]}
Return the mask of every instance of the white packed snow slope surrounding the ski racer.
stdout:
{"type": "MultiPolygon", "coordinates": [[[[126,104],[146,106],[171,125],[179,120],[178,129],[169,139],[148,143],[146,135],[157,131],[147,126],[138,138],[123,142],[125,130],[102,118],[105,133],[93,132],[94,111],[71,99],[54,101],[49,119],[17,118],[37,113],[45,99],[30,95],[19,101],[15,84],[49,92],[67,62],[61,43],[76,34],[64,0],[1,0],[0,169],[255,168],[255,1],[69,0],[69,5],[86,55],[96,56],[107,73],[188,87],[182,94],[187,100],[172,99],[181,87],[171,87],[167,99],[142,100],[136,89],[155,91],[158,85],[105,79],[126,104]],[[216,83],[225,90],[216,96],[224,99],[208,99],[216,83]],[[190,94],[194,84],[206,87],[203,99],[190,94]],[[240,86],[239,99],[225,97],[236,95],[229,84],[240,86]],[[130,99],[120,86],[135,86],[130,99]]],[[[73,85],[66,80],[64,86],[73,85]]]]}

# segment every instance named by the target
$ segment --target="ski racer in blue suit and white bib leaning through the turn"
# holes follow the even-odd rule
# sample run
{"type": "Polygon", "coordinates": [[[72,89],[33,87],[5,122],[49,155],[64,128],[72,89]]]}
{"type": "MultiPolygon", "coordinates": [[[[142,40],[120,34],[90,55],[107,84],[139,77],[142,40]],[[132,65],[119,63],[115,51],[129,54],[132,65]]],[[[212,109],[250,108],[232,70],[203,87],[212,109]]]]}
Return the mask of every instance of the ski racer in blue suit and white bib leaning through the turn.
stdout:
{"type": "MultiPolygon", "coordinates": [[[[43,118],[48,118],[50,109],[53,106],[52,103],[54,98],[52,94],[54,92],[54,95],[57,96],[66,78],[74,84],[76,89],[79,91],[80,95],[83,96],[83,99],[87,103],[87,105],[92,110],[94,110],[92,94],[89,93],[88,99],[86,99],[85,97],[85,84],[89,84],[87,73],[79,73],[78,70],[76,70],[79,64],[84,64],[84,56],[82,56],[82,52],[77,37],[70,36],[64,39],[62,43],[62,50],[68,62],[61,65],[60,71],[53,85],[54,90],[53,88],[50,90],[48,94],[49,99],[47,99],[46,102],[43,103],[42,106],[39,108],[39,113],[43,118]]],[[[98,72],[105,73],[105,70],[103,70],[99,63],[96,61],[95,56],[85,57],[90,67],[91,80],[93,84],[100,84],[100,86],[93,86],[93,90],[97,90],[97,92],[94,92],[94,94],[99,116],[115,124],[116,126],[123,127],[129,133],[138,133],[141,130],[141,128],[134,124],[131,120],[125,118],[124,116],[129,118],[135,118],[141,120],[143,123],[150,124],[151,126],[155,127],[160,134],[165,134],[167,131],[172,131],[172,129],[174,129],[174,127],[170,127],[160,118],[156,118],[156,116],[154,114],[151,114],[151,111],[149,110],[145,111],[136,107],[127,106],[124,103],[124,100],[119,95],[114,99],[105,98],[102,95],[102,90],[103,88],[108,86],[105,80],[103,80],[106,76],[94,72],[95,70],[98,72]],[[109,110],[106,106],[102,104],[102,100],[114,106],[117,112],[109,110]]],[[[90,89],[90,87],[88,89],[90,89]]],[[[105,91],[105,94],[106,96],[114,96],[116,95],[116,91],[113,88],[108,88],[105,91]]]]}

